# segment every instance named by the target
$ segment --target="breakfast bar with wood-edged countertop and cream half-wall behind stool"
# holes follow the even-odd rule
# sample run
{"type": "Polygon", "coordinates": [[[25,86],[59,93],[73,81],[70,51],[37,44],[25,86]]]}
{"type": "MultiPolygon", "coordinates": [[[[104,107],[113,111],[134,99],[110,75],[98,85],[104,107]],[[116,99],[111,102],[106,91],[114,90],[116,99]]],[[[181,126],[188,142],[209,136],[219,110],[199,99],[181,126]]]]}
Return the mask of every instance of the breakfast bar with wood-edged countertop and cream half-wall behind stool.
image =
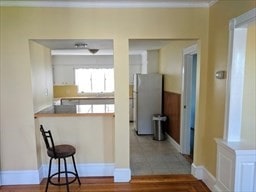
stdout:
{"type": "Polygon", "coordinates": [[[53,105],[35,114],[37,149],[43,165],[47,152],[40,125],[51,130],[54,142],[76,147],[81,176],[112,176],[114,169],[114,104],[53,105]]]}

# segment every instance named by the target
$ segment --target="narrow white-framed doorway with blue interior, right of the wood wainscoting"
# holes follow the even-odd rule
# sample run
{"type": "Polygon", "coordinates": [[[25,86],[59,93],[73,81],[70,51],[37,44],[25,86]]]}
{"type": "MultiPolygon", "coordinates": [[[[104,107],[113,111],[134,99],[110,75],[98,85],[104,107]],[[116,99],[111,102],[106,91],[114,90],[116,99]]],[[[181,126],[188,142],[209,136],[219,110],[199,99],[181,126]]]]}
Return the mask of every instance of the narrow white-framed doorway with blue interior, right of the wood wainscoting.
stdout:
{"type": "Polygon", "coordinates": [[[183,50],[181,152],[193,161],[197,79],[197,45],[183,50]]]}

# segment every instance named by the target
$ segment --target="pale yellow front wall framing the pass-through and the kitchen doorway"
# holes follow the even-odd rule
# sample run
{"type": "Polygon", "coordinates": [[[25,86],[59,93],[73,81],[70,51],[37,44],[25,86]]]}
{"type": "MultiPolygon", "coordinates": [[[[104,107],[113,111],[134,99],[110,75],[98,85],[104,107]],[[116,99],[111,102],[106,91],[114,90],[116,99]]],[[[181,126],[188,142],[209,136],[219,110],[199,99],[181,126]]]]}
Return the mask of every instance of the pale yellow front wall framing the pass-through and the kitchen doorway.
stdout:
{"type": "MultiPolygon", "coordinates": [[[[30,39],[114,40],[117,168],[129,167],[129,39],[199,39],[202,105],[198,124],[199,130],[203,129],[208,10],[1,7],[1,169],[37,168],[34,130],[38,127],[33,120],[30,39]],[[9,153],[17,150],[19,154],[9,153]],[[12,161],[17,158],[18,162],[12,161]]],[[[200,159],[203,154],[199,151],[197,155],[200,159]]]]}

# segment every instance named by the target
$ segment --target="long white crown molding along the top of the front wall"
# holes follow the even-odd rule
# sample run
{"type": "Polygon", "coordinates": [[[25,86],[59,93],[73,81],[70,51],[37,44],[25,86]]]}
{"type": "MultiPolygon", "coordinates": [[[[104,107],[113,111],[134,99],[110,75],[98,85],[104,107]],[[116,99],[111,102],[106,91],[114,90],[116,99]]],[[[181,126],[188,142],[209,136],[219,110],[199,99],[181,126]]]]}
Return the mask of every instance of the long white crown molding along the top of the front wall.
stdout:
{"type": "Polygon", "coordinates": [[[0,6],[7,7],[67,7],[67,8],[182,8],[210,7],[218,0],[155,0],[155,1],[15,1],[2,0],[0,6]]]}

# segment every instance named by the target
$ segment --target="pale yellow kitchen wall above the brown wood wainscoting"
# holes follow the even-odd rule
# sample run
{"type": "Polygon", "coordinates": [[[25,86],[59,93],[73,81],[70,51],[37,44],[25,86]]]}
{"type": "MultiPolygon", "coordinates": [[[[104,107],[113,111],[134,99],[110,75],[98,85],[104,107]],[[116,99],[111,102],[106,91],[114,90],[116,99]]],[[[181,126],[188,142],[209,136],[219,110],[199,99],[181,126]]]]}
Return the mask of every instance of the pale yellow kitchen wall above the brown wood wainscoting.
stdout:
{"type": "Polygon", "coordinates": [[[196,44],[196,41],[172,41],[160,49],[159,72],[164,74],[164,90],[181,94],[183,49],[196,44]]]}

